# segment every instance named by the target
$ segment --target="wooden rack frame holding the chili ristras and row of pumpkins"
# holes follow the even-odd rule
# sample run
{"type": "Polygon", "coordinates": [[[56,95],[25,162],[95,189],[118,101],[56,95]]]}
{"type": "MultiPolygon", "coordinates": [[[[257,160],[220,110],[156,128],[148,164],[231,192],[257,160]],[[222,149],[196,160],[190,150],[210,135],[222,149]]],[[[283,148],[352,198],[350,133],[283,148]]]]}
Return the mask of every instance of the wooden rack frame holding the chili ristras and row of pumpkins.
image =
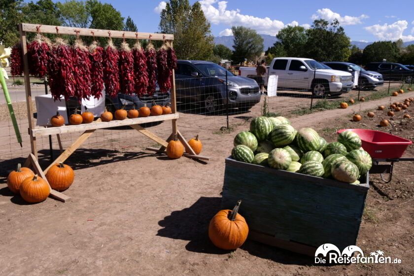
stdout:
{"type": "MultiPolygon", "coordinates": [[[[19,24],[19,31],[20,31],[20,41],[23,51],[23,70],[24,70],[24,77],[25,77],[25,90],[26,90],[26,104],[27,104],[27,114],[28,114],[28,121],[29,121],[29,136],[30,136],[30,145],[32,148],[32,154],[29,156],[28,160],[26,161],[26,165],[32,165],[35,167],[38,174],[44,176],[47,171],[53,166],[51,164],[48,168],[44,171],[41,171],[40,166],[37,163],[37,147],[36,147],[36,138],[46,135],[56,134],[58,136],[58,141],[60,141],[60,135],[73,133],[73,132],[83,132],[79,138],[77,138],[65,151],[61,153],[61,155],[54,161],[57,162],[64,162],[69,156],[83,143],[85,142],[97,129],[103,128],[113,128],[119,126],[130,126],[131,128],[137,130],[139,133],[143,134],[144,136],[156,141],[158,144],[161,145],[159,149],[148,148],[149,150],[156,151],[159,153],[163,153],[166,150],[168,142],[174,137],[181,141],[181,143],[185,147],[184,156],[194,159],[201,159],[201,160],[208,160],[209,158],[206,156],[197,155],[194,150],[189,146],[187,140],[182,136],[182,134],[177,129],[177,119],[179,115],[176,110],[176,97],[175,97],[175,74],[173,70],[172,74],[172,90],[171,90],[171,110],[172,114],[168,115],[161,115],[161,116],[150,116],[145,118],[136,118],[136,119],[125,119],[122,121],[110,121],[110,122],[102,122],[100,118],[95,120],[95,122],[90,124],[81,124],[81,125],[68,125],[68,126],[61,126],[61,127],[35,127],[34,117],[33,117],[33,102],[32,102],[32,91],[30,88],[30,76],[29,76],[29,63],[28,63],[28,55],[27,55],[27,38],[26,33],[37,33],[40,31],[42,34],[60,34],[60,35],[82,35],[82,36],[97,36],[97,37],[116,37],[116,38],[130,38],[130,39],[151,39],[151,40],[168,40],[170,41],[171,45],[173,45],[174,35],[169,34],[155,34],[155,33],[136,33],[136,32],[123,32],[123,31],[113,31],[113,30],[97,30],[97,29],[86,29],[86,28],[72,28],[72,27],[63,27],[63,26],[50,26],[50,25],[37,25],[37,24],[27,24],[21,23],[19,24]],[[143,123],[150,123],[150,122],[160,122],[160,121],[172,121],[172,134],[167,140],[160,138],[146,130],[145,128],[141,127],[140,124],[143,123]]],[[[69,199],[68,196],[54,191],[51,189],[51,196],[65,202],[69,199]]]]}

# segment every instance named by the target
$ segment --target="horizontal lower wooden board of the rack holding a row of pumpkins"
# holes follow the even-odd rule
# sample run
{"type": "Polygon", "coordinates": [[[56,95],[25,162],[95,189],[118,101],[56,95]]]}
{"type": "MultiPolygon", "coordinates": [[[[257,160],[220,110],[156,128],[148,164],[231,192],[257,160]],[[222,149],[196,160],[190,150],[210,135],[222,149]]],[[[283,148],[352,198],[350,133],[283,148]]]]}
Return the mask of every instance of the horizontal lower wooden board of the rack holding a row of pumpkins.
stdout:
{"type": "Polygon", "coordinates": [[[160,122],[166,120],[172,120],[178,118],[178,113],[160,115],[160,116],[149,116],[149,117],[140,117],[135,119],[125,119],[125,120],[113,120],[110,122],[102,122],[101,120],[96,120],[90,124],[81,124],[81,125],[68,125],[61,127],[40,127],[32,130],[34,137],[53,135],[53,134],[65,134],[71,132],[84,132],[87,130],[96,130],[96,129],[105,129],[113,127],[122,127],[130,126],[136,124],[160,122]]]}

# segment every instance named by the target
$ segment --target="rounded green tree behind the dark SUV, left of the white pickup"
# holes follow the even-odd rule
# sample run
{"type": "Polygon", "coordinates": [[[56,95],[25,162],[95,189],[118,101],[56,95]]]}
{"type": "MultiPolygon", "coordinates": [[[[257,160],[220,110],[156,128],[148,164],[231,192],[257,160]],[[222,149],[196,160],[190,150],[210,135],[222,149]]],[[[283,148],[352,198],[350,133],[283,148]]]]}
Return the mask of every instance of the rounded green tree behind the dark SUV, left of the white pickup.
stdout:
{"type": "Polygon", "coordinates": [[[255,30],[242,26],[232,27],[234,35],[233,61],[254,60],[263,52],[263,38],[255,30]]]}

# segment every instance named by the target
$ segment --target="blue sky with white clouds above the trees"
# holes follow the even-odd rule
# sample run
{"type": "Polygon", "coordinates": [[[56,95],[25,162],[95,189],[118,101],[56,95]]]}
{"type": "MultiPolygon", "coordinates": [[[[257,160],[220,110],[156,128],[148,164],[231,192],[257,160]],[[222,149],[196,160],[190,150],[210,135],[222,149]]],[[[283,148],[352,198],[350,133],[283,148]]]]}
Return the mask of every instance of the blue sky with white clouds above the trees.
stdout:
{"type": "MultiPolygon", "coordinates": [[[[128,15],[138,31],[158,31],[159,10],[165,1],[101,0],[111,3],[124,17],[128,15]]],[[[190,0],[190,3],[194,3],[190,0]]],[[[338,18],[346,34],[355,41],[414,40],[414,1],[333,1],[333,0],[201,0],[214,36],[230,35],[233,25],[255,29],[259,34],[276,35],[288,24],[308,28],[314,18],[338,18]],[[392,4],[395,3],[395,4],[392,4]]]]}

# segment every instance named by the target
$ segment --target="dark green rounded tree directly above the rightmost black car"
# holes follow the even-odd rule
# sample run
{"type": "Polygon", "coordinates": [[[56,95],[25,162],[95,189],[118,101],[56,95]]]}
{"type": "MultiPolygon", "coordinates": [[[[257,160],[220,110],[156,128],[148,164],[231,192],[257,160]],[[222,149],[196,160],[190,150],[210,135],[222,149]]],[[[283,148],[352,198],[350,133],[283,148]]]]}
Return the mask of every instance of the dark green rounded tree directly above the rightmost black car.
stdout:
{"type": "Polygon", "coordinates": [[[381,62],[396,62],[399,58],[399,49],[395,42],[391,41],[377,41],[367,47],[363,52],[364,63],[381,62]]]}

